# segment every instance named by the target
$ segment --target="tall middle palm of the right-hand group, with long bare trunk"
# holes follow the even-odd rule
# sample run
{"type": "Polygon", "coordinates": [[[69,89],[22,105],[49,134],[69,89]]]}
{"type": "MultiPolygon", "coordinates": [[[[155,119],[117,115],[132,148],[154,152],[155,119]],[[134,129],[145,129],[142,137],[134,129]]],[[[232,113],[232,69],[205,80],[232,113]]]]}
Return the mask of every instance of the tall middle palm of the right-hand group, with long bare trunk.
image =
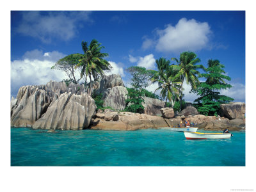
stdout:
{"type": "Polygon", "coordinates": [[[200,62],[199,58],[196,58],[196,54],[194,52],[182,52],[180,53],[180,59],[172,58],[178,63],[178,65],[172,65],[175,70],[177,70],[177,74],[174,78],[180,79],[180,111],[182,104],[182,91],[183,91],[183,83],[186,79],[186,83],[190,84],[192,89],[195,89],[200,81],[197,76],[200,76],[200,72],[198,72],[199,68],[205,70],[203,65],[196,65],[196,63],[200,62]]]}

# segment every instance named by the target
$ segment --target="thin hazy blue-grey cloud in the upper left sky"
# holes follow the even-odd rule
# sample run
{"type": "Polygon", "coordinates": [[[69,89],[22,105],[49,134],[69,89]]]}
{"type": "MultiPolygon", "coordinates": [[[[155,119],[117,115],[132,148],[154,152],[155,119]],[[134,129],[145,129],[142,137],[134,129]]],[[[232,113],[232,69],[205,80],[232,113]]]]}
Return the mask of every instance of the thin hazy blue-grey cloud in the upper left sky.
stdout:
{"type": "Polygon", "coordinates": [[[53,37],[61,40],[73,38],[80,21],[92,22],[90,12],[22,12],[19,26],[14,30],[51,43],[53,37]]]}

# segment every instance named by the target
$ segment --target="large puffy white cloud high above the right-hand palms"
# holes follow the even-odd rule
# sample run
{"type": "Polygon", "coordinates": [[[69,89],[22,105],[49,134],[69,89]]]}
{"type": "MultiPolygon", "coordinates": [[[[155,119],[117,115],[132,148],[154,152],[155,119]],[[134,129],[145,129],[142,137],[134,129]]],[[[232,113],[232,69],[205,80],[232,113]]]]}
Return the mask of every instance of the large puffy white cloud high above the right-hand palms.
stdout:
{"type": "Polygon", "coordinates": [[[198,51],[207,47],[211,29],[207,22],[198,22],[195,19],[182,18],[172,26],[168,24],[165,29],[156,29],[157,38],[145,38],[142,48],[156,44],[160,52],[198,51]]]}

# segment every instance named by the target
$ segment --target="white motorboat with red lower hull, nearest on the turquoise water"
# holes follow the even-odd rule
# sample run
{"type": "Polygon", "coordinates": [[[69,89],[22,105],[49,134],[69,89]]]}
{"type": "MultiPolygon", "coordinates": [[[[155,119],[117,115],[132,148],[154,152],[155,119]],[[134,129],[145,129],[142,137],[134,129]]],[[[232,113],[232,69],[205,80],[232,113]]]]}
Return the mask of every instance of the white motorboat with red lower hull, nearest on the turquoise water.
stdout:
{"type": "Polygon", "coordinates": [[[233,134],[225,129],[223,132],[184,132],[185,138],[187,140],[207,140],[207,139],[228,139],[233,134]]]}

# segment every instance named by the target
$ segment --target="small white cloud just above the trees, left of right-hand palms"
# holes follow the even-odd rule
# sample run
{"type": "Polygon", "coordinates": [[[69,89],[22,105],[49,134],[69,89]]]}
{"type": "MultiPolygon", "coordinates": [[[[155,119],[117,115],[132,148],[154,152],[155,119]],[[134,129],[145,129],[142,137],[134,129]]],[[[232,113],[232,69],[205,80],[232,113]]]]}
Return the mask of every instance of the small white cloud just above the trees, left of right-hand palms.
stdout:
{"type": "Polygon", "coordinates": [[[137,63],[137,65],[140,67],[152,69],[152,68],[154,68],[156,59],[154,58],[153,54],[148,54],[145,57],[134,57],[134,56],[129,55],[129,61],[131,63],[137,63]]]}

